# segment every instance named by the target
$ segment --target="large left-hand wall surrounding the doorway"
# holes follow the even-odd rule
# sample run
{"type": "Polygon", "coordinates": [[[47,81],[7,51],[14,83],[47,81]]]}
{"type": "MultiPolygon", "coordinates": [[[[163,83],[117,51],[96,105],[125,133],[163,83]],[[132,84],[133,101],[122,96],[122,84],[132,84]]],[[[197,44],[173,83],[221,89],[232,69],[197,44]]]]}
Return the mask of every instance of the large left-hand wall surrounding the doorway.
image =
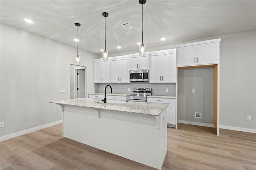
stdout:
{"type": "MultiPolygon", "coordinates": [[[[4,24],[0,31],[0,136],[61,120],[61,107],[49,102],[70,98],[70,63],[77,49],[4,24]]],[[[79,54],[80,65],[90,73],[87,94],[93,93],[93,60],[98,55],[79,54]]]]}

